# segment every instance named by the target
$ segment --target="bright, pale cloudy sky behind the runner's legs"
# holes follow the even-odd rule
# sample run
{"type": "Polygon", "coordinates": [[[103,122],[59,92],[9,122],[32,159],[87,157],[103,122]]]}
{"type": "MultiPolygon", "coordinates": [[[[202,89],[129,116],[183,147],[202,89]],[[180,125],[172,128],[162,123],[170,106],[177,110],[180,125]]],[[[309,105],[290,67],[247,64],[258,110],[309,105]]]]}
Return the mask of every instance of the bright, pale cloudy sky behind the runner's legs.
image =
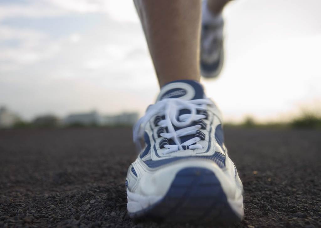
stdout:
{"type": "MultiPolygon", "coordinates": [[[[226,120],[321,110],[321,1],[238,0],[225,63],[202,80],[226,120]]],[[[0,106],[25,119],[138,111],[159,87],[131,0],[1,0],[0,106]]]]}

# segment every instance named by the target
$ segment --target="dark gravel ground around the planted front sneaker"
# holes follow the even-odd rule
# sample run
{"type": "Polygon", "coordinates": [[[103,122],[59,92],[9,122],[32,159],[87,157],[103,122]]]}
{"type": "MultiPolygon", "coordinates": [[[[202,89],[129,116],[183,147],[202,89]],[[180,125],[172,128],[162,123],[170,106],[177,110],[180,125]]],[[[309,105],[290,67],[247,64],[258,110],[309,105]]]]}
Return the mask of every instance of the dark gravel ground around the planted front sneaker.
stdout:
{"type": "MultiPolygon", "coordinates": [[[[226,129],[244,184],[231,227],[321,227],[321,131],[226,129]]],[[[0,131],[0,227],[197,227],[133,221],[130,128],[0,131]]]]}

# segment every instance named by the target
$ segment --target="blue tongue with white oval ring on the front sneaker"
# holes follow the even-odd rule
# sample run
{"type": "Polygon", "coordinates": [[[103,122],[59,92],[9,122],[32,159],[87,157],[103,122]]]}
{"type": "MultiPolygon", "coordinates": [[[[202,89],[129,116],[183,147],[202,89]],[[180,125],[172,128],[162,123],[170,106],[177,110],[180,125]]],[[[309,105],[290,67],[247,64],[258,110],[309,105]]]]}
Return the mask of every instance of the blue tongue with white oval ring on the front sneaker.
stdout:
{"type": "Polygon", "coordinates": [[[157,101],[165,98],[195,100],[204,98],[204,90],[200,83],[193,80],[178,80],[167,83],[160,89],[157,101]]]}

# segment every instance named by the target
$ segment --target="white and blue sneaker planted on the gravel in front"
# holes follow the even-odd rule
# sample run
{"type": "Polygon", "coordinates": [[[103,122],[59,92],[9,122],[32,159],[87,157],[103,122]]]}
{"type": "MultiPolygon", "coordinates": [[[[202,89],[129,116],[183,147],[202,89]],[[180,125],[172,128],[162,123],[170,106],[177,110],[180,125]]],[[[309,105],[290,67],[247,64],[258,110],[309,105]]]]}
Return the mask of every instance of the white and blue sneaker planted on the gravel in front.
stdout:
{"type": "Polygon", "coordinates": [[[143,148],[126,177],[132,218],[242,220],[243,187],[224,146],[221,113],[198,82],[163,86],[133,134],[143,148]]]}

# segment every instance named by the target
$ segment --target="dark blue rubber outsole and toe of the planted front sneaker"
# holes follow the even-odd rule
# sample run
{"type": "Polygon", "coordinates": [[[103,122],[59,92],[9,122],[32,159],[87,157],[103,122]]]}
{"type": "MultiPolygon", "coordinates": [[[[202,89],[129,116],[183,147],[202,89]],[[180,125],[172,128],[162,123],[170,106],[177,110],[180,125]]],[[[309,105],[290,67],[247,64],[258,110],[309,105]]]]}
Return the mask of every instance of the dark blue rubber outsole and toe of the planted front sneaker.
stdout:
{"type": "Polygon", "coordinates": [[[180,170],[166,195],[132,218],[148,218],[170,222],[234,223],[241,219],[231,209],[215,174],[205,168],[180,170]]]}

